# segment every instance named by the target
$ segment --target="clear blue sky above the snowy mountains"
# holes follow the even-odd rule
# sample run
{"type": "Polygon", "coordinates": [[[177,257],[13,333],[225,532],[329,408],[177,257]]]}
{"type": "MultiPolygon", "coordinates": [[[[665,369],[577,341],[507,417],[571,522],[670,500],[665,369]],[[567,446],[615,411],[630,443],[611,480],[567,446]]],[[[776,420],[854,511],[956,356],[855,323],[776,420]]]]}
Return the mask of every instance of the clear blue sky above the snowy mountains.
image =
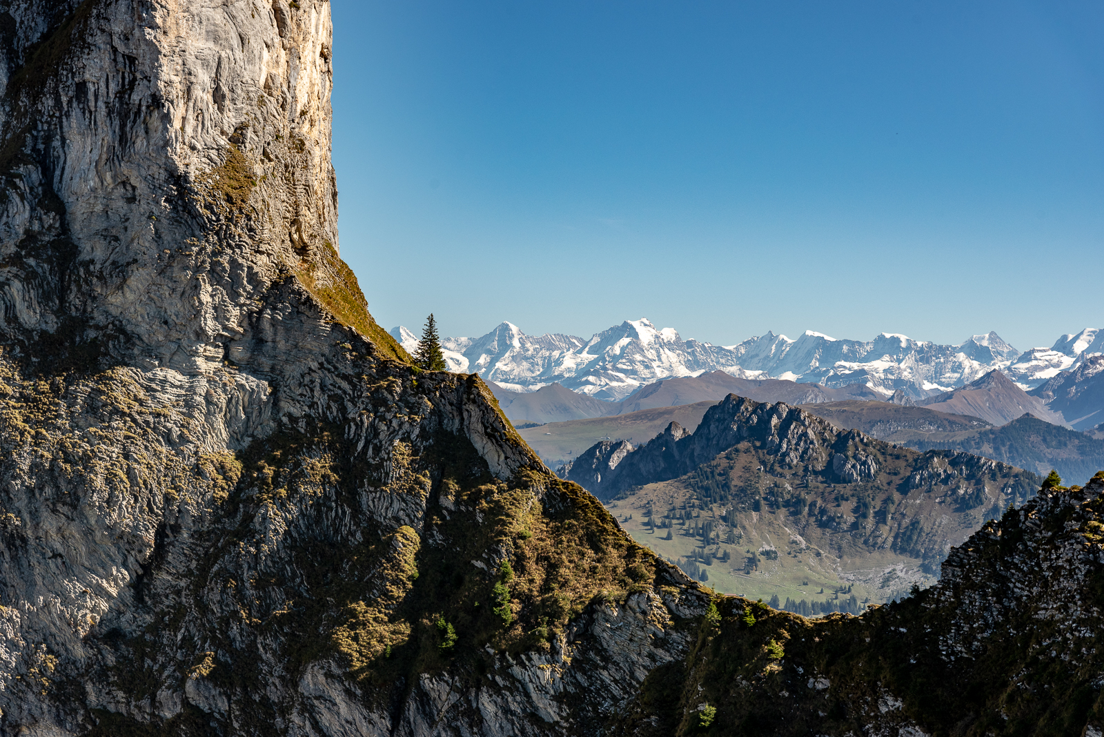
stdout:
{"type": "Polygon", "coordinates": [[[1104,327],[1104,3],[332,0],[385,327],[1104,327]]]}

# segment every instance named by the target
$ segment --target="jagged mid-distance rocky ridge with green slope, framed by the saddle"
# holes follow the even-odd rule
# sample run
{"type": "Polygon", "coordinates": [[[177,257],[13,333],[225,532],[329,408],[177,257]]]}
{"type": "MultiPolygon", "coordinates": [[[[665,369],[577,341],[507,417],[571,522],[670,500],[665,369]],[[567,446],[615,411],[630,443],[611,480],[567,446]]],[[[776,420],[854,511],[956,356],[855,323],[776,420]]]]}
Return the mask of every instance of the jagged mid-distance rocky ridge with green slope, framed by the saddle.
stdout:
{"type": "Polygon", "coordinates": [[[804,572],[826,585],[857,583],[860,596],[875,601],[902,595],[906,579],[931,583],[954,545],[1029,499],[1042,480],[969,453],[901,448],[797,407],[735,395],[709,408],[693,434],[671,423],[635,450],[603,441],[561,474],[615,510],[636,510],[636,519],[622,521],[636,540],[662,555],[691,553],[680,563],[693,562],[693,573],[703,562],[703,580],[720,590],[799,580],[804,572]],[[777,559],[783,546],[785,565],[761,569],[751,555],[767,551],[777,559]]]}

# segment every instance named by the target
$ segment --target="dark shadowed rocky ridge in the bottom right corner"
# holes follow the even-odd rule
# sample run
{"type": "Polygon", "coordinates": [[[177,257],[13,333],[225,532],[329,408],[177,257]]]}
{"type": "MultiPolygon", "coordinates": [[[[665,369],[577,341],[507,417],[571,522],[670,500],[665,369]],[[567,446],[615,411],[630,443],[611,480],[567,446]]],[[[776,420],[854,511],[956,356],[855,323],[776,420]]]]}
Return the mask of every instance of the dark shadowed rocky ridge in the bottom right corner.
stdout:
{"type": "Polygon", "coordinates": [[[1044,489],[863,617],[720,601],[614,734],[1098,734],[1102,511],[1104,473],[1044,489]]]}

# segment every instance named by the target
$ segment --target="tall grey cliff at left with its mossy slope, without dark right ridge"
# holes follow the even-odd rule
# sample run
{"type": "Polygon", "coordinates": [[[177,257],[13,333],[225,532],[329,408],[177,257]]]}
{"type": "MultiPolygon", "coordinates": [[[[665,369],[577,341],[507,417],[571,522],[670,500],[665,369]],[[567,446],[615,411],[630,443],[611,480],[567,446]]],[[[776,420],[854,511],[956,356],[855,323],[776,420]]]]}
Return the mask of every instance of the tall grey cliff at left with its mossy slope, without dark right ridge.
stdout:
{"type": "Polygon", "coordinates": [[[460,611],[420,578],[489,595],[509,525],[593,500],[478,378],[388,357],[337,256],[327,2],[0,20],[0,730],[593,730],[686,652],[707,599],[660,566],[485,672],[410,665],[460,611]]]}

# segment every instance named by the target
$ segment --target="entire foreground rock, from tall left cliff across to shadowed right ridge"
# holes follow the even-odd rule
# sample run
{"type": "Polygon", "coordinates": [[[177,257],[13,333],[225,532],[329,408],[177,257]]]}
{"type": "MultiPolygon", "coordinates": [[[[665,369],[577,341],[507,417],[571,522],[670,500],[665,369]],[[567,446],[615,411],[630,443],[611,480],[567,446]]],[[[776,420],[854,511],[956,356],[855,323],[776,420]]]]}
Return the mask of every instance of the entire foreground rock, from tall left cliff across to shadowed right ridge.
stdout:
{"type": "Polygon", "coordinates": [[[339,257],[330,23],[0,1],[0,734],[1100,734],[1100,482],[804,619],[413,367],[339,257]]]}

